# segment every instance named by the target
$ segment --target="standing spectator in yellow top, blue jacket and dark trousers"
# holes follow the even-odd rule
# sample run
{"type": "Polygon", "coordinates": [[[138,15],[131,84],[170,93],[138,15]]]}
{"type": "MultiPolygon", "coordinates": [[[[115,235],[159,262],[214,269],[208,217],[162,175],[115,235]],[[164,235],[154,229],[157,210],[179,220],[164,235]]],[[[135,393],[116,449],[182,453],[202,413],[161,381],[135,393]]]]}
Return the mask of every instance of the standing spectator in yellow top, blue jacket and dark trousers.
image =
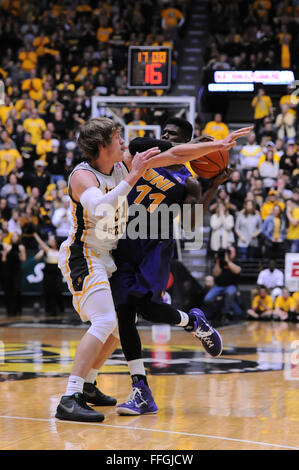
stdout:
{"type": "Polygon", "coordinates": [[[286,222],[278,205],[273,207],[272,214],[268,215],[264,220],[262,234],[265,240],[266,256],[281,258],[284,252],[286,222]]]}

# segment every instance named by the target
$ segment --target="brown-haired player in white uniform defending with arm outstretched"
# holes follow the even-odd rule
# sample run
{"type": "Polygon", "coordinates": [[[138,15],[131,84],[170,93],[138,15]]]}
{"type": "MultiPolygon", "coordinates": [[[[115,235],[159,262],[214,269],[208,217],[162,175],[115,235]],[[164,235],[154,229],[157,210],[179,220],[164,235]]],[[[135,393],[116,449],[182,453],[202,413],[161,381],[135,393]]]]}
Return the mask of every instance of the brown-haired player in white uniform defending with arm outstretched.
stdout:
{"type": "Polygon", "coordinates": [[[113,121],[95,118],[83,125],[78,145],[87,161],[77,165],[69,178],[73,227],[61,245],[59,267],[73,295],[75,309],[83,321],[90,321],[91,326],[77,348],[56,418],[71,421],[104,419],[102,413],[86,404],[82,391],[100,354],[109,357],[114,339],[117,341],[118,338],[108,279],[116,269],[111,250],[125,230],[127,194],[147,168],[185,163],[215,150],[229,150],[235,145],[236,138],[247,133],[240,129],[223,141],[184,144],[159,156],[160,150],[153,148],[136,154],[134,159],[127,156],[126,165],[123,161],[124,141],[113,121]]]}

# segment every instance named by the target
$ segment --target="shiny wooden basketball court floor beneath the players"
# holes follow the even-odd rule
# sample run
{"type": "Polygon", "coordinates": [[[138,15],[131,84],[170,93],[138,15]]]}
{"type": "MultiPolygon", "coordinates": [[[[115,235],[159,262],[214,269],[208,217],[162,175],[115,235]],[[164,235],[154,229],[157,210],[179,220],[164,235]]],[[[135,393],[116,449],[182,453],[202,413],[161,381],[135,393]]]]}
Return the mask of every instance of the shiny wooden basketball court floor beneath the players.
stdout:
{"type": "MultiPolygon", "coordinates": [[[[173,329],[155,344],[142,330],[157,415],[102,423],[54,417],[84,330],[0,322],[1,450],[299,450],[299,325],[248,322],[220,329],[224,350],[210,358],[173,329]],[[297,348],[297,349],[296,349],[297,348]]],[[[121,350],[98,383],[123,401],[130,380],[121,350]]]]}

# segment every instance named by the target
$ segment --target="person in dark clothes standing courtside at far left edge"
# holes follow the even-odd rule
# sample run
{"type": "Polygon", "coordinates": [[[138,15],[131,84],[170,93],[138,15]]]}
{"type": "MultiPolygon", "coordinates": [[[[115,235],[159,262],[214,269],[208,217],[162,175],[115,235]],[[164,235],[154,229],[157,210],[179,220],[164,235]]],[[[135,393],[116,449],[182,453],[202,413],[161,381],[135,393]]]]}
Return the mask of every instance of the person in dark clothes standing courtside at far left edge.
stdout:
{"type": "Polygon", "coordinates": [[[13,233],[11,243],[4,246],[2,252],[4,301],[8,315],[17,315],[22,311],[21,263],[26,261],[26,250],[20,242],[20,235],[13,233]]]}

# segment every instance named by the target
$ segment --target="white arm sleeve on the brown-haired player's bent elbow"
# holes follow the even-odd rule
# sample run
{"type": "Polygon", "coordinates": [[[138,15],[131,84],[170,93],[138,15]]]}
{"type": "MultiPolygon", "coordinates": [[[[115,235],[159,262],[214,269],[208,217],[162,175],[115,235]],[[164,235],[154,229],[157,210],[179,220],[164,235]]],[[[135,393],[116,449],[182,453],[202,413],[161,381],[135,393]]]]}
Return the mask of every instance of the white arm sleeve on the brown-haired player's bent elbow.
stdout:
{"type": "Polygon", "coordinates": [[[114,211],[120,205],[120,198],[126,197],[132,186],[126,181],[121,181],[112,191],[103,194],[96,186],[92,186],[81,195],[80,202],[84,209],[92,216],[103,217],[108,210],[108,206],[114,211]]]}

